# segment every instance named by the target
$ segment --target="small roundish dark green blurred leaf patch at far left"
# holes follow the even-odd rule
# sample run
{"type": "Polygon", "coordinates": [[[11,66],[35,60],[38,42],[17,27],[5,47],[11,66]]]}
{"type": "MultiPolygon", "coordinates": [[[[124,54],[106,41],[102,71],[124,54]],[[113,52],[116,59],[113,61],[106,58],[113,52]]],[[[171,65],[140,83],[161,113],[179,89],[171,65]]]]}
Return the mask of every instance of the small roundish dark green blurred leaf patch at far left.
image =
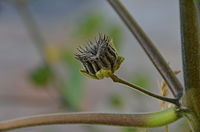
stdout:
{"type": "Polygon", "coordinates": [[[33,70],[29,75],[30,80],[37,86],[46,86],[53,80],[53,72],[46,65],[42,65],[33,70]]]}

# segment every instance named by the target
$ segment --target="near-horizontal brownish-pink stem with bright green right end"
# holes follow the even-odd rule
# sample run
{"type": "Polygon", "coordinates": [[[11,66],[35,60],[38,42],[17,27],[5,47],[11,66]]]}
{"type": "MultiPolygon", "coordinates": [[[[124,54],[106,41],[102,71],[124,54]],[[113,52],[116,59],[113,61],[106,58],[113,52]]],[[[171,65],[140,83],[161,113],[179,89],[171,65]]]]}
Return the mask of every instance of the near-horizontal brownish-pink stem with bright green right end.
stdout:
{"type": "Polygon", "coordinates": [[[134,127],[160,127],[181,117],[181,110],[169,108],[146,114],[68,113],[48,114],[0,122],[0,131],[39,125],[99,124],[134,127]]]}

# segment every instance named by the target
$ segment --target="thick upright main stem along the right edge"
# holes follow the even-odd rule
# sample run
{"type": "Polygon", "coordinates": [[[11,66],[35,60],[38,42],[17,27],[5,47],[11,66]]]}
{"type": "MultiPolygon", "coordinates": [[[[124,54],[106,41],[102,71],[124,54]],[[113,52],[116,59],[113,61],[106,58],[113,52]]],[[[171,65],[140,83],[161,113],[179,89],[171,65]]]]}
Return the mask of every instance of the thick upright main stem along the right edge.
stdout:
{"type": "Polygon", "coordinates": [[[184,105],[192,111],[187,117],[193,132],[200,131],[200,27],[196,2],[199,3],[197,0],[180,0],[184,105]]]}

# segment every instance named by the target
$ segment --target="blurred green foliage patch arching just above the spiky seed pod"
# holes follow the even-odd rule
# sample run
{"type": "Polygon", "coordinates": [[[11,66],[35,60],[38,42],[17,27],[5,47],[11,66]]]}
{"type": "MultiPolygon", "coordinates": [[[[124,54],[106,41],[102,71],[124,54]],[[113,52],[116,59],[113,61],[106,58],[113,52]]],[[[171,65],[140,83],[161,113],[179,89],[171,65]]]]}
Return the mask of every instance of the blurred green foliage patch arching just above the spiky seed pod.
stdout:
{"type": "Polygon", "coordinates": [[[123,39],[123,32],[119,24],[113,23],[113,20],[106,19],[100,13],[88,13],[84,19],[80,21],[74,31],[74,35],[79,38],[89,39],[98,33],[109,35],[114,42],[117,50],[123,39]]]}

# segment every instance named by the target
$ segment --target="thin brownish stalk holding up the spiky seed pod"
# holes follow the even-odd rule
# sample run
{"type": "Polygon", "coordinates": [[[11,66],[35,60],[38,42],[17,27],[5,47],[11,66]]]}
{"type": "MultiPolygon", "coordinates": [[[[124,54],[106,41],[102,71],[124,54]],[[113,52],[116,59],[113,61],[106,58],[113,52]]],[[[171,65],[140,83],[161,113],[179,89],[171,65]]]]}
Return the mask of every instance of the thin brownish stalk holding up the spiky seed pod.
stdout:
{"type": "Polygon", "coordinates": [[[146,95],[149,95],[151,97],[154,97],[154,98],[157,98],[159,100],[162,100],[162,101],[166,101],[166,102],[169,102],[169,103],[172,103],[172,104],[175,104],[176,106],[180,106],[179,104],[179,100],[178,99],[173,99],[173,98],[167,98],[167,97],[164,97],[164,96],[160,96],[160,95],[157,95],[157,94],[154,94],[148,90],[145,90],[144,88],[141,88],[135,84],[131,84],[127,81],[124,81],[122,79],[120,79],[118,76],[112,74],[110,75],[110,78],[114,81],[114,82],[118,82],[118,83],[121,83],[121,84],[124,84],[124,85],[127,85],[135,90],[138,90],[146,95]]]}

